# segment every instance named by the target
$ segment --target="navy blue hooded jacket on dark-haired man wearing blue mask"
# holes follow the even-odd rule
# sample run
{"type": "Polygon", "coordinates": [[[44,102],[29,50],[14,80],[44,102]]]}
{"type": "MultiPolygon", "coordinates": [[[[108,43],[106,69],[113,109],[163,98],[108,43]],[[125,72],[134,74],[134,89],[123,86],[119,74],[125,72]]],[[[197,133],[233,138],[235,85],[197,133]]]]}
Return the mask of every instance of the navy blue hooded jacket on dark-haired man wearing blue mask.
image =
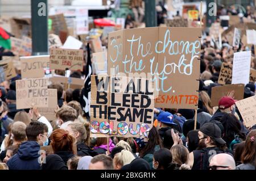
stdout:
{"type": "Polygon", "coordinates": [[[10,170],[39,170],[38,162],[40,145],[36,141],[25,141],[13,157],[9,159],[7,165],[10,170]]]}

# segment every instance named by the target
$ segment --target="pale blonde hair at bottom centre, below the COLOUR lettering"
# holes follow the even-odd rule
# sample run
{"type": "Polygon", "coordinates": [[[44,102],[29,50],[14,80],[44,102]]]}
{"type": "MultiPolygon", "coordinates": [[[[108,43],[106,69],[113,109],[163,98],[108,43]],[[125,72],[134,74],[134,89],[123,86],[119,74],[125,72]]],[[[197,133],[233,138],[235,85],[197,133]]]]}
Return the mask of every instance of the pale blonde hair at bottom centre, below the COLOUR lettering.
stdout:
{"type": "Polygon", "coordinates": [[[115,154],[114,163],[119,164],[121,166],[127,165],[131,163],[135,159],[133,153],[128,150],[122,150],[121,152],[115,154]]]}

